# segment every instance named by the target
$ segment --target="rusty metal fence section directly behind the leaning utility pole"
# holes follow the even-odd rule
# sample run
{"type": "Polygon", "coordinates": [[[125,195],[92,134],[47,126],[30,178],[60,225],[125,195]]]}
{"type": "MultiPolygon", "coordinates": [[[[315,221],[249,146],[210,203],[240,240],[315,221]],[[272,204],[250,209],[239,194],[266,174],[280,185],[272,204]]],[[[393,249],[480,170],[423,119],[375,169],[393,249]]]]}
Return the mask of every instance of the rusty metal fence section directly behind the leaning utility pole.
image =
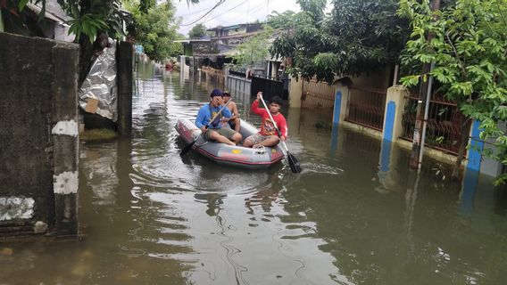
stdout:
{"type": "MultiPolygon", "coordinates": [[[[405,96],[401,137],[407,141],[412,141],[413,138],[418,99],[413,94],[405,96]]],[[[425,144],[439,151],[457,154],[461,142],[461,125],[464,121],[465,118],[455,103],[435,96],[429,102],[425,144]]]]}

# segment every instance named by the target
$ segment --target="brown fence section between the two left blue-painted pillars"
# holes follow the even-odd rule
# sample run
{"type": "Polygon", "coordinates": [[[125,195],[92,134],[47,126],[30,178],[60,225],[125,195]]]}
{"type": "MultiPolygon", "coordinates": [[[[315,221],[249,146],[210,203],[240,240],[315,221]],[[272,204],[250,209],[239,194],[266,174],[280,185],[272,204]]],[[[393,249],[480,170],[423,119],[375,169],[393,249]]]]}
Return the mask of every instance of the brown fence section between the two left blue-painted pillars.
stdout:
{"type": "Polygon", "coordinates": [[[345,120],[382,131],[386,110],[386,91],[351,86],[345,120]]]}

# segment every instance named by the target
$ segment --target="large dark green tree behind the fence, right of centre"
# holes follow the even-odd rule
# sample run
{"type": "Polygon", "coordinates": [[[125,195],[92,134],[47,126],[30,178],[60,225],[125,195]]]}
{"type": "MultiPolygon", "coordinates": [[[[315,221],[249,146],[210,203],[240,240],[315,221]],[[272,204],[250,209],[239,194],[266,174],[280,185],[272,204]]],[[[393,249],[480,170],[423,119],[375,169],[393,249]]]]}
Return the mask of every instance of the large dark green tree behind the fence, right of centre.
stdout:
{"type": "Polygon", "coordinates": [[[272,45],[272,54],[292,58],[290,74],[332,82],[336,75],[359,75],[398,61],[408,21],[396,14],[397,0],[334,0],[330,16],[320,2],[298,1],[310,23],[303,21],[272,45]]]}

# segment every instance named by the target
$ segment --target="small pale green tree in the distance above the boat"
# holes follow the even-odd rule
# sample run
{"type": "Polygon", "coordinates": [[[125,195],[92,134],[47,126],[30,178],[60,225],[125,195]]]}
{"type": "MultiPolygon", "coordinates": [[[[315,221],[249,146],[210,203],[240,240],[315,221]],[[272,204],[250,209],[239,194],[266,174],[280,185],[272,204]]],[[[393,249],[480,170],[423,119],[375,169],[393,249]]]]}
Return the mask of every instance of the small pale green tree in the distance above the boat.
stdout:
{"type": "Polygon", "coordinates": [[[272,28],[266,26],[257,35],[248,37],[245,43],[238,45],[239,53],[233,56],[235,68],[261,66],[270,54],[268,39],[272,32],[272,28]]]}

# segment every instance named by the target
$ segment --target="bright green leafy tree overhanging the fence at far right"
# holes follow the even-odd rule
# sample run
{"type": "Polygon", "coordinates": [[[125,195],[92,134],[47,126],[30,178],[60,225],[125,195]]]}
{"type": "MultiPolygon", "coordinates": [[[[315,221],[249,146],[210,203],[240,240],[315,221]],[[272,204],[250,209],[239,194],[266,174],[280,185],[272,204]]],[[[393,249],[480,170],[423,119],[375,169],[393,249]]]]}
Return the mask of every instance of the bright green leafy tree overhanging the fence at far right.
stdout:
{"type": "MultiPolygon", "coordinates": [[[[495,140],[495,148],[486,144],[484,153],[507,165],[507,136],[498,126],[507,120],[507,0],[456,0],[439,12],[431,12],[428,0],[402,0],[399,12],[410,19],[412,31],[403,64],[433,61],[436,66],[427,74],[403,77],[403,85],[418,85],[433,76],[439,94],[480,122],[480,138],[495,140]],[[428,31],[435,35],[431,41],[428,31]]],[[[462,128],[454,177],[469,141],[468,127],[462,128]]],[[[500,175],[496,183],[506,180],[507,175],[500,175]]]]}

